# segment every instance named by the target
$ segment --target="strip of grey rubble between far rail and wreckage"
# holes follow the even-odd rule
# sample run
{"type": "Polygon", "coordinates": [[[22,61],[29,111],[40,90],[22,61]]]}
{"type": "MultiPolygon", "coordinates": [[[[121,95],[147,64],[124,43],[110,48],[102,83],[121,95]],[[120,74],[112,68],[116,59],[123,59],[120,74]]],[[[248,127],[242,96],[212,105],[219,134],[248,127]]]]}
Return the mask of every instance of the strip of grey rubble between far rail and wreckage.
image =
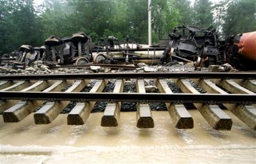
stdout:
{"type": "MultiPolygon", "coordinates": [[[[97,72],[106,73],[143,73],[143,72],[195,72],[195,67],[193,67],[192,63],[181,63],[181,62],[172,62],[168,66],[163,65],[146,65],[145,63],[138,63],[138,68],[134,70],[124,70],[124,69],[113,69],[110,70],[109,68],[101,67],[97,70],[97,72]]],[[[201,72],[207,72],[207,68],[202,68],[201,72]]],[[[67,73],[95,73],[95,70],[92,69],[66,69],[66,68],[59,68],[59,69],[49,69],[47,65],[43,65],[41,60],[36,61],[33,63],[32,66],[26,67],[25,69],[13,69],[12,67],[3,66],[0,67],[0,75],[11,75],[11,74],[23,74],[23,75],[30,75],[30,74],[67,74],[67,73]]]]}

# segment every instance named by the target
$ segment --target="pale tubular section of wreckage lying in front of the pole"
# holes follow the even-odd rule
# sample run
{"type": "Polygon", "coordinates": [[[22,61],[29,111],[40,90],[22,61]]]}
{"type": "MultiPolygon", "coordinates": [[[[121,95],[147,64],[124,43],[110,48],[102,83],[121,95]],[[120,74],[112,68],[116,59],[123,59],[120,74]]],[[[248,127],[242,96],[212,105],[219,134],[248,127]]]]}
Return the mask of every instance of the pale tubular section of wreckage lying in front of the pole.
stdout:
{"type": "Polygon", "coordinates": [[[128,37],[122,42],[114,36],[99,40],[93,49],[93,63],[159,63],[159,58],[165,47],[153,47],[147,44],[137,44],[128,37]]]}

